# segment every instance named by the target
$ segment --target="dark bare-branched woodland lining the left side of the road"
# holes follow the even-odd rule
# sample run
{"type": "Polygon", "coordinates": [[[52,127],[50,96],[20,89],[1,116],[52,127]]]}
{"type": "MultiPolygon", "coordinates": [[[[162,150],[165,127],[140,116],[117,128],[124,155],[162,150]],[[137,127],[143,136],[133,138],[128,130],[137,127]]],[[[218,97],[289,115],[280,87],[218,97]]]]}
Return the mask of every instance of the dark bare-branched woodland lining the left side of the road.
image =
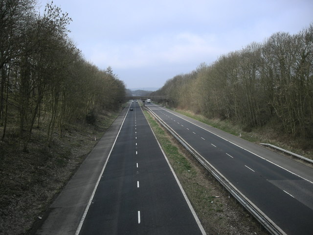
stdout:
{"type": "Polygon", "coordinates": [[[59,7],[36,0],[0,0],[0,140],[23,149],[33,128],[62,136],[67,123],[92,123],[99,110],[116,110],[125,85],[108,67],[87,62],[68,37],[71,22],[59,7]]]}

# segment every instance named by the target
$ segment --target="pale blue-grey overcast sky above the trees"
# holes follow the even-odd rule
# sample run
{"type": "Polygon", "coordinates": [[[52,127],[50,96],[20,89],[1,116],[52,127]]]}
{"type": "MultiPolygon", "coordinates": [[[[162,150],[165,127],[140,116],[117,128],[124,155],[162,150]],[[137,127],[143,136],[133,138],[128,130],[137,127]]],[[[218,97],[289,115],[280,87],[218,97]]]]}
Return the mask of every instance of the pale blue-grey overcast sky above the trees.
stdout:
{"type": "Polygon", "coordinates": [[[202,62],[313,23],[313,0],[53,2],[72,18],[69,36],[86,60],[99,69],[111,66],[129,89],[160,88],[202,62]]]}

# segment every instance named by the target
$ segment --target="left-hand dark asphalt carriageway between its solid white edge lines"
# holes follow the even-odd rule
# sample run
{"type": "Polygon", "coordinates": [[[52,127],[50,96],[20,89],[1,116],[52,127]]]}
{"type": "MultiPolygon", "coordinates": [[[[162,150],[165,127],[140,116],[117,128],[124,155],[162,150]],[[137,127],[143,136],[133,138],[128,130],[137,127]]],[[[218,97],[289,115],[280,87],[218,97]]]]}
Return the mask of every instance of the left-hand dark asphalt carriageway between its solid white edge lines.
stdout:
{"type": "Polygon", "coordinates": [[[203,235],[138,103],[132,102],[76,235],[203,235]]]}

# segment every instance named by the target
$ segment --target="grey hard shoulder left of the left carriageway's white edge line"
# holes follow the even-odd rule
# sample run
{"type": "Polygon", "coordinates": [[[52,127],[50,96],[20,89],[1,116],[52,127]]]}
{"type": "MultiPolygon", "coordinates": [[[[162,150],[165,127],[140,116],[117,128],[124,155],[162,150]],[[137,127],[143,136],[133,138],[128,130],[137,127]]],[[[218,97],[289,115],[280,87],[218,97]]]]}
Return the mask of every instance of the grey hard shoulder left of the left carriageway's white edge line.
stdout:
{"type": "Polygon", "coordinates": [[[29,235],[75,234],[126,113],[122,110],[29,235]]]}

